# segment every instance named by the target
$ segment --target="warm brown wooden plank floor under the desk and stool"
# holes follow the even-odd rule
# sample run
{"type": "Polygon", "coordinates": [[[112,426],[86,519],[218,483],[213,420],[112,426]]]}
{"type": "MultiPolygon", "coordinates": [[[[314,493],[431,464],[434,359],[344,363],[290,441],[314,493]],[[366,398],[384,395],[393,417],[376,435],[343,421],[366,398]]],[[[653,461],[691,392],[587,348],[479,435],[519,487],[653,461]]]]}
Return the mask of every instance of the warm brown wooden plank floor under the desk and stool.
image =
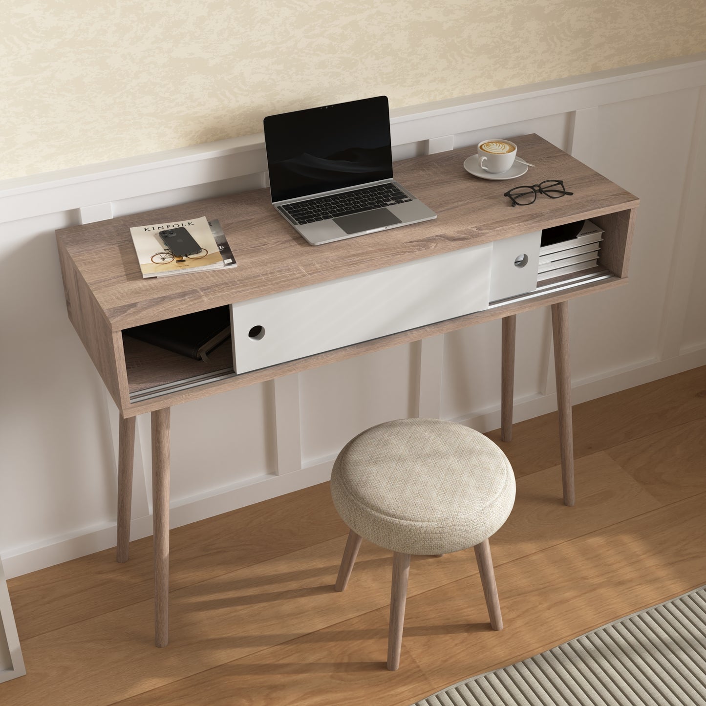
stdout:
{"type": "Polygon", "coordinates": [[[390,553],[346,528],[328,484],[172,530],[169,646],[152,646],[152,541],[8,582],[28,674],[3,706],[408,706],[706,584],[706,367],[574,407],[577,505],[557,417],[499,442],[517,500],[493,537],[505,629],[473,551],[414,557],[402,664],[385,669],[390,553]]]}

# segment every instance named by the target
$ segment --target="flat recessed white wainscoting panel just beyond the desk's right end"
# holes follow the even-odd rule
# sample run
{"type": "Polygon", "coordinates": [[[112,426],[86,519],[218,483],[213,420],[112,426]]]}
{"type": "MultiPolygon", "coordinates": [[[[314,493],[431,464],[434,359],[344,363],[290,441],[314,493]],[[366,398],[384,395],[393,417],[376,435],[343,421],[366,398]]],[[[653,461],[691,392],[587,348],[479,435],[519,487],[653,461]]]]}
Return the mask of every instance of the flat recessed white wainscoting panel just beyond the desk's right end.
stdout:
{"type": "MultiPolygon", "coordinates": [[[[628,287],[570,304],[574,380],[659,354],[667,277],[681,212],[698,92],[680,90],[599,109],[591,167],[641,199],[628,287]],[[659,148],[670,136],[669,150],[659,148]],[[597,345],[597,342],[600,342],[597,345]]],[[[567,198],[567,197],[565,197],[567,198]]]]}

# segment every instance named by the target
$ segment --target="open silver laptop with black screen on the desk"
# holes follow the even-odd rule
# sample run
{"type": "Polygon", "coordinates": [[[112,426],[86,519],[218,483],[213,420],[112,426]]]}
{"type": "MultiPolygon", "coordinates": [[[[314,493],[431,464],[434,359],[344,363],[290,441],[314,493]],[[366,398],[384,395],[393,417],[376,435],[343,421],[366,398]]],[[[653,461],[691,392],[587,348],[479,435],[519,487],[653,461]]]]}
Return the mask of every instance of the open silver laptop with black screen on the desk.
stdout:
{"type": "Polygon", "coordinates": [[[436,218],[393,179],[386,96],[269,115],[263,124],[273,206],[311,245],[436,218]]]}

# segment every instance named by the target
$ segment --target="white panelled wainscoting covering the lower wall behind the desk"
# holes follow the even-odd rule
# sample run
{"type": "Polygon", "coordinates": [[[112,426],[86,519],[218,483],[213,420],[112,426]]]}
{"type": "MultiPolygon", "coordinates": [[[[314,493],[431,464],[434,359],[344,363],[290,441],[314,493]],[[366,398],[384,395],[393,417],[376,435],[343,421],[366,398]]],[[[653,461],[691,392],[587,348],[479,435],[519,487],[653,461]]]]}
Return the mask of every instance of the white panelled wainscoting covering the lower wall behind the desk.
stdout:
{"type": "MultiPolygon", "coordinates": [[[[642,200],[628,286],[570,302],[573,401],[705,365],[706,55],[395,110],[393,157],[530,132],[642,200]]],[[[266,186],[264,157],[253,135],[0,184],[9,577],[115,544],[117,414],[68,322],[54,229],[266,186]]],[[[325,481],[342,445],[388,419],[498,427],[500,346],[489,322],[175,407],[172,526],[325,481]]],[[[515,420],[556,409],[546,311],[518,316],[515,366],[515,420]]],[[[143,415],[133,539],[151,532],[150,462],[143,415]]]]}

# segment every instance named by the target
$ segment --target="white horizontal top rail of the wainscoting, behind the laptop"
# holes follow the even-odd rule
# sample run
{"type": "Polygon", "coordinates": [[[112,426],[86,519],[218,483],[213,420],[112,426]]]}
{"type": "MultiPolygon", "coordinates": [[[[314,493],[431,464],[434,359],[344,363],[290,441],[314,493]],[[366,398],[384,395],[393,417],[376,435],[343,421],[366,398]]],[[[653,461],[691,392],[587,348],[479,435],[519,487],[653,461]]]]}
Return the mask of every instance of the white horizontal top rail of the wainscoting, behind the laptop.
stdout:
{"type": "MultiPolygon", "coordinates": [[[[393,145],[448,139],[469,126],[491,128],[705,84],[706,53],[399,108],[391,112],[393,145]]],[[[261,174],[265,169],[263,134],[256,133],[6,179],[0,181],[0,222],[261,174]]]]}

